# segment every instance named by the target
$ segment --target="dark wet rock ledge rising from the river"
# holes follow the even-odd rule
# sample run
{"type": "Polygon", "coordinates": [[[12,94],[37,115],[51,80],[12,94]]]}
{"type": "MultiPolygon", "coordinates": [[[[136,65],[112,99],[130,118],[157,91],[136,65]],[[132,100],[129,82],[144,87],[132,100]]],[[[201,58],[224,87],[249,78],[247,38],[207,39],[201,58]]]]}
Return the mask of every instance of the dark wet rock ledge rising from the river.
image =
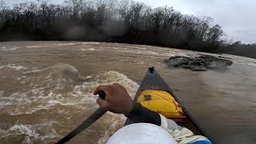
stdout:
{"type": "Polygon", "coordinates": [[[181,67],[194,71],[222,70],[226,66],[231,66],[232,61],[224,58],[217,58],[211,55],[201,55],[198,57],[174,56],[164,60],[169,67],[181,67]]]}

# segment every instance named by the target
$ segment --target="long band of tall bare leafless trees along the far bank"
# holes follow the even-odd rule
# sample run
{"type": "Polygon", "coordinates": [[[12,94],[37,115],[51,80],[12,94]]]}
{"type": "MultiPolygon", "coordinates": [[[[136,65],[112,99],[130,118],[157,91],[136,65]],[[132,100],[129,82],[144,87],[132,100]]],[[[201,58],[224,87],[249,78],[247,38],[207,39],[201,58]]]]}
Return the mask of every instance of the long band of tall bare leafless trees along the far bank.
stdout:
{"type": "Polygon", "coordinates": [[[45,0],[8,6],[0,0],[0,41],[81,40],[169,46],[218,53],[232,45],[222,40],[213,19],[181,14],[172,7],[152,9],[130,0],[45,0]]]}

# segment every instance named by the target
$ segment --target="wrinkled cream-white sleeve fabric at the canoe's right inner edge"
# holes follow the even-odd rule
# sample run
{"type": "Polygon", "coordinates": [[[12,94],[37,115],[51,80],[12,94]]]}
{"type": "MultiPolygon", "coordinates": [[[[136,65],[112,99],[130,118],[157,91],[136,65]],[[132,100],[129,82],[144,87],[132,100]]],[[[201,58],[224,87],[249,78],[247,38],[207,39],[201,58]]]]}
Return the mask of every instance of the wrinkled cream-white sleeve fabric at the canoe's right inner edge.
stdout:
{"type": "MultiPolygon", "coordinates": [[[[191,130],[186,127],[178,126],[173,120],[167,119],[160,114],[161,127],[168,131],[168,133],[178,142],[178,144],[194,143],[198,141],[210,142],[208,138],[202,135],[194,135],[191,130]]],[[[210,142],[211,143],[211,142],[210,142]]]]}

